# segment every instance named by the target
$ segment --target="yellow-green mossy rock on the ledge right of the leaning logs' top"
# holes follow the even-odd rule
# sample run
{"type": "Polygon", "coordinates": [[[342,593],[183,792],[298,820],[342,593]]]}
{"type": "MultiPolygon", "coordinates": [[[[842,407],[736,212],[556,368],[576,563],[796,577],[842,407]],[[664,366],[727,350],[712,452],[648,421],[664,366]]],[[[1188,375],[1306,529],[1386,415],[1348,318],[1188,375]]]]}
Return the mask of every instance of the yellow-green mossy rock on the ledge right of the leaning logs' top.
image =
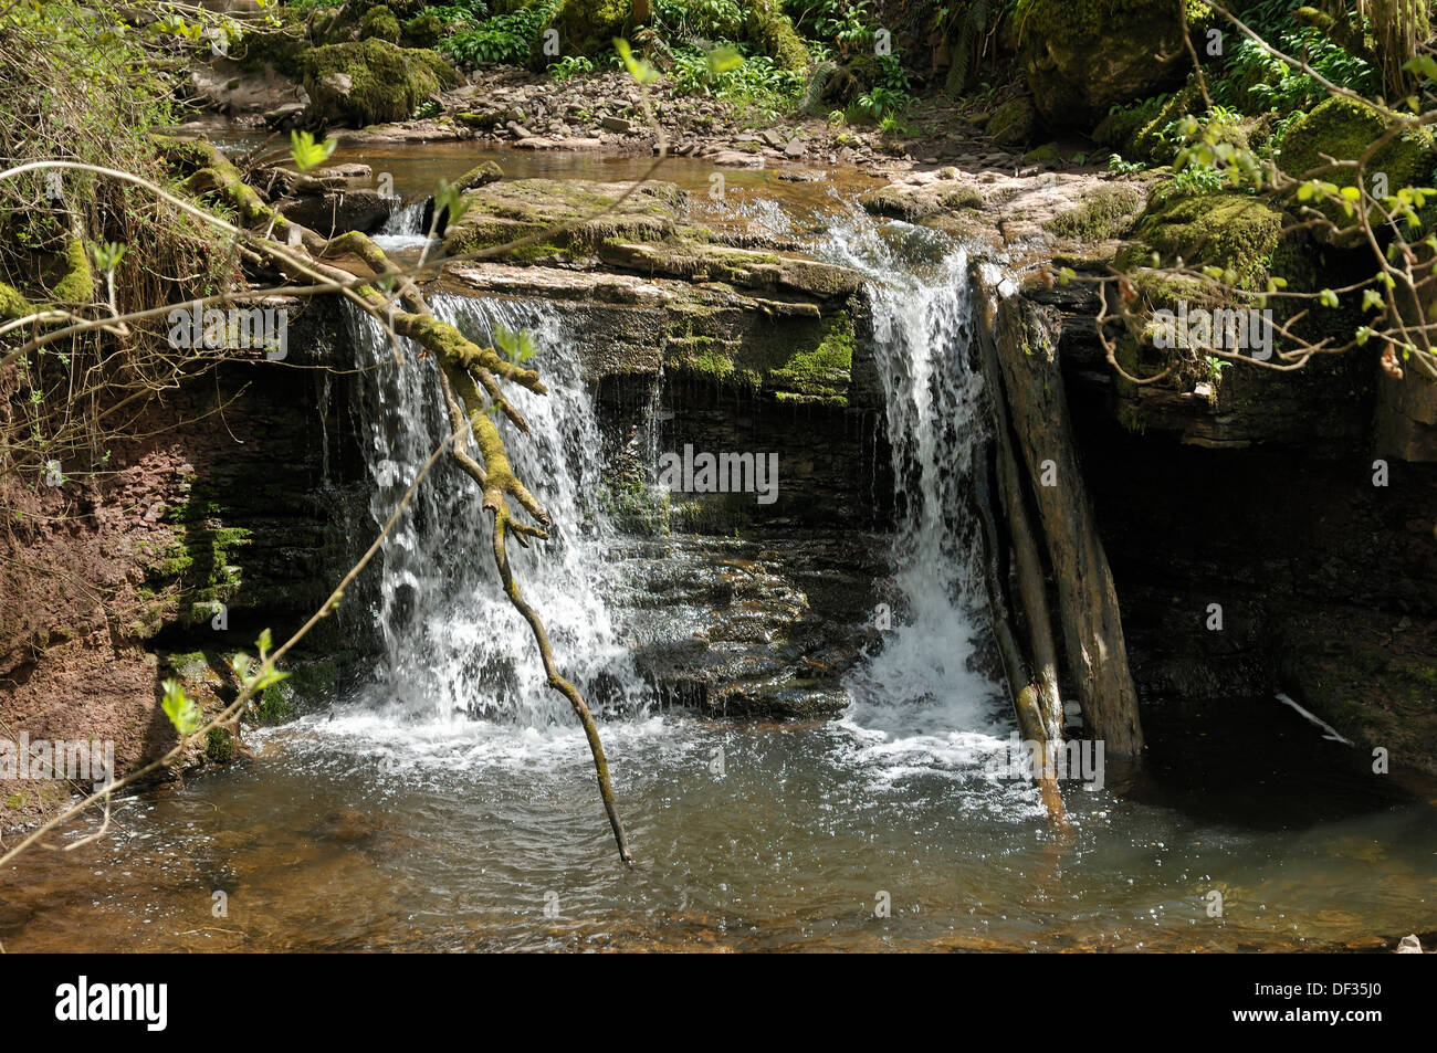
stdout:
{"type": "Polygon", "coordinates": [[[1260,287],[1282,241],[1283,213],[1247,194],[1200,194],[1154,203],[1138,223],[1135,241],[1117,257],[1122,269],[1144,267],[1151,253],[1164,266],[1187,264],[1232,270],[1237,284],[1260,287]]]}

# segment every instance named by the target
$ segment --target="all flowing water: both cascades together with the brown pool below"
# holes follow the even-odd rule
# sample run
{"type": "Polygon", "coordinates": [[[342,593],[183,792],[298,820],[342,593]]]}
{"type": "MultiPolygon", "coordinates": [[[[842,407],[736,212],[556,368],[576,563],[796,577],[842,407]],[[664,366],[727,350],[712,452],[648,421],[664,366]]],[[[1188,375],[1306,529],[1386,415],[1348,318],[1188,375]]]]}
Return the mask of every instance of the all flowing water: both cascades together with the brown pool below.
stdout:
{"type": "MultiPolygon", "coordinates": [[[[1279,707],[1246,718],[1279,750],[1207,746],[1174,723],[1194,736],[1193,770],[1109,766],[1104,787],[1069,792],[1066,836],[1027,783],[984,770],[1013,725],[974,662],[984,621],[963,493],[984,424],[967,259],[864,218],[815,251],[869,274],[898,480],[892,629],[845,682],[841,720],[743,724],[658,704],[614,602],[627,539],[593,498],[601,442],[563,315],[438,296],[435,312],[481,342],[496,326],[537,335],[552,394],[516,392],[533,437],[510,453],[556,537],[514,552],[516,573],[604,714],[638,866],[616,865],[583,737],[499,593],[477,490],[441,460],[385,542],[362,690],[254,736],[251,764],[131,800],[108,840],[80,849],[83,888],[57,853],[34,853],[0,905],[7,948],[1237,950],[1430,918],[1431,806],[1374,793],[1361,759],[1279,707]]],[[[356,414],[378,523],[447,425],[433,362],[372,320],[348,325],[356,365],[372,366],[356,414]]]]}

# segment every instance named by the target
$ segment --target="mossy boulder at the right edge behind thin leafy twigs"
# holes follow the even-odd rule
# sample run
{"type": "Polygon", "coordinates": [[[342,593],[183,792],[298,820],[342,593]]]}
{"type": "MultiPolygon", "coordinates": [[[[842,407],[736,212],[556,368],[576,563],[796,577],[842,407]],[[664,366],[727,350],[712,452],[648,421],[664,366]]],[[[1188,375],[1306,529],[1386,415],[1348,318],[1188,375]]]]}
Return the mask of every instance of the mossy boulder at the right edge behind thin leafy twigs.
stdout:
{"type": "MultiPolygon", "coordinates": [[[[1342,98],[1328,99],[1288,129],[1277,154],[1277,167],[1285,174],[1299,178],[1328,165],[1323,155],[1336,161],[1357,161],[1387,128],[1382,115],[1365,102],[1342,98]]],[[[1368,187],[1372,187],[1372,177],[1378,172],[1387,175],[1388,192],[1391,194],[1403,187],[1431,185],[1434,161],[1437,161],[1437,155],[1433,154],[1430,134],[1404,132],[1392,138],[1367,162],[1368,187]]],[[[1357,182],[1357,172],[1352,168],[1335,168],[1321,172],[1315,178],[1338,187],[1352,187],[1357,182]]],[[[1355,223],[1334,201],[1325,201],[1319,208],[1338,227],[1351,227],[1355,223]]],[[[1372,223],[1380,221],[1381,215],[1374,210],[1372,223]]],[[[1354,231],[1346,238],[1338,240],[1339,243],[1352,243],[1359,238],[1361,234],[1354,231]]]]}

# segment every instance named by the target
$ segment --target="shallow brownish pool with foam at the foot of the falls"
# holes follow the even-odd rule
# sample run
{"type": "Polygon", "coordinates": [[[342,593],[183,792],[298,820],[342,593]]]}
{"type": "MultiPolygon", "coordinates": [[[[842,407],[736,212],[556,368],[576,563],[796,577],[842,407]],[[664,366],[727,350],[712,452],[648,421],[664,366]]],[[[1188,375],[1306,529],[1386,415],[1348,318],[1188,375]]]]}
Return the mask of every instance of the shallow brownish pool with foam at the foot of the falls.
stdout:
{"type": "Polygon", "coordinates": [[[1232,705],[1246,746],[1188,728],[1141,773],[1109,759],[1104,789],[1065,787],[1066,832],[1032,786],[981,771],[1000,738],[941,730],[941,707],[609,721],[631,871],[578,730],[341,704],[256,736],[253,761],[131,799],[103,842],[32,852],[0,941],[1217,951],[1430,931],[1437,787],[1367,773],[1276,702],[1232,705]]]}

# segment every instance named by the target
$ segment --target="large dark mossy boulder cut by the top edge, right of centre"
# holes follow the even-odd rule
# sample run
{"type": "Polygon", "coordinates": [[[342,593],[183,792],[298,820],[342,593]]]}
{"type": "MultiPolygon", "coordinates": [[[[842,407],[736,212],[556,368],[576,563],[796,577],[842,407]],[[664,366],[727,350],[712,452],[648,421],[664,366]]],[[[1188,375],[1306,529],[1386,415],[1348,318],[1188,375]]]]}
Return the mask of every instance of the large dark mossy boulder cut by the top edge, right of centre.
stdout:
{"type": "Polygon", "coordinates": [[[1043,121],[1092,128],[1112,106],[1181,79],[1178,4],[1188,26],[1213,17],[1200,0],[1019,0],[1019,59],[1043,121]]]}

